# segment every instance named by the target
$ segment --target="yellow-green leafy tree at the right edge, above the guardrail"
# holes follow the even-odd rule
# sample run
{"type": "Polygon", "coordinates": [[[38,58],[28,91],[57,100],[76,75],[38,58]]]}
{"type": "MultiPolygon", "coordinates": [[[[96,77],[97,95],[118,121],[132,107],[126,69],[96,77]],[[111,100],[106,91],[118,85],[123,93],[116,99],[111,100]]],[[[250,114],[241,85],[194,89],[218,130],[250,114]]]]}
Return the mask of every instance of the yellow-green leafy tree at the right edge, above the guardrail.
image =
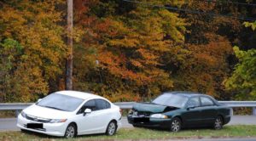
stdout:
{"type": "Polygon", "coordinates": [[[239,63],[225,86],[237,93],[236,99],[256,99],[256,49],[242,51],[234,47],[234,51],[239,63]]]}

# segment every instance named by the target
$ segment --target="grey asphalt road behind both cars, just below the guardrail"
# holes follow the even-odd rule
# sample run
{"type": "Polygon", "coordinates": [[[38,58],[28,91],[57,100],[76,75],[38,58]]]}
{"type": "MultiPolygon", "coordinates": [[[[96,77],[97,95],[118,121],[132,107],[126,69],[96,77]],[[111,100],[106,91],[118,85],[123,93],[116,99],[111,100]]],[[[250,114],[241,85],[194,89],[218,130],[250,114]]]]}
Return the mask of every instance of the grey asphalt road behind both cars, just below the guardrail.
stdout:
{"type": "MultiPolygon", "coordinates": [[[[232,116],[228,125],[256,125],[256,116],[232,116]]],[[[127,118],[122,118],[122,127],[132,127],[127,118]]],[[[0,119],[0,131],[17,131],[16,118],[0,119]]]]}

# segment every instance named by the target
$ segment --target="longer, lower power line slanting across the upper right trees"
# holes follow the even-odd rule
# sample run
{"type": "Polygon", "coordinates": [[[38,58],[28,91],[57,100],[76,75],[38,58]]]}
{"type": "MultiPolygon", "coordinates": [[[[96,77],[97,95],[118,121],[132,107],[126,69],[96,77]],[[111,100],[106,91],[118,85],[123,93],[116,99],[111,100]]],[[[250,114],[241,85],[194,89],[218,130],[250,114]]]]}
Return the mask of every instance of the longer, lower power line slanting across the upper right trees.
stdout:
{"type": "Polygon", "coordinates": [[[256,18],[253,17],[236,17],[236,16],[231,16],[231,15],[226,15],[226,14],[214,14],[214,13],[205,13],[205,12],[200,12],[200,11],[195,11],[195,10],[190,10],[188,8],[173,8],[173,7],[167,7],[167,6],[162,6],[162,5],[153,5],[149,3],[143,3],[143,2],[138,2],[138,1],[131,1],[131,0],[123,0],[124,2],[127,3],[138,3],[138,4],[143,4],[148,7],[153,7],[153,8],[167,8],[175,11],[182,11],[182,12],[188,12],[191,14],[207,14],[211,16],[222,16],[222,17],[227,17],[227,18],[232,18],[232,19],[238,19],[238,20],[256,20],[256,18]]]}

